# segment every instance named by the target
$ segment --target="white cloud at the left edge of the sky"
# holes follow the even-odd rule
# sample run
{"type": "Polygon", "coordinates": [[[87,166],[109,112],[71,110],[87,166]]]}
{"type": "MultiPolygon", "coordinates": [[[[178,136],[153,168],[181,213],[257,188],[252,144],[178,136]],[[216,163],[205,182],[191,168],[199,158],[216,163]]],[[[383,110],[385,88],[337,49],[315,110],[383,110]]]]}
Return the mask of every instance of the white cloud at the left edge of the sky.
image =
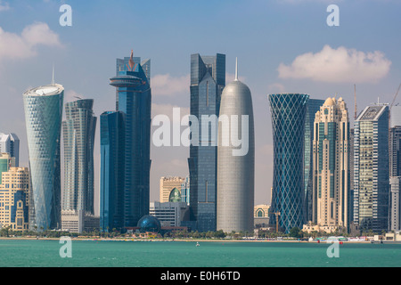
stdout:
{"type": "Polygon", "coordinates": [[[6,32],[0,27],[0,61],[33,57],[37,54],[38,45],[62,46],[59,36],[42,22],[27,26],[21,35],[6,32]]]}

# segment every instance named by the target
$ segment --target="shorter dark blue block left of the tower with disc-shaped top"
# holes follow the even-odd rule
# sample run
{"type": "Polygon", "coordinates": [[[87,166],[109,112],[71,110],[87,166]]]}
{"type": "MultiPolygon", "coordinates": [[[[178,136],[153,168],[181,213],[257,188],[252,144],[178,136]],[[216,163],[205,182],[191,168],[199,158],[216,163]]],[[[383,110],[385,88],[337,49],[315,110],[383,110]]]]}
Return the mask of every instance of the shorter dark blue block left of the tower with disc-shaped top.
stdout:
{"type": "Polygon", "coordinates": [[[106,111],[100,117],[100,230],[124,228],[125,114],[106,111]]]}

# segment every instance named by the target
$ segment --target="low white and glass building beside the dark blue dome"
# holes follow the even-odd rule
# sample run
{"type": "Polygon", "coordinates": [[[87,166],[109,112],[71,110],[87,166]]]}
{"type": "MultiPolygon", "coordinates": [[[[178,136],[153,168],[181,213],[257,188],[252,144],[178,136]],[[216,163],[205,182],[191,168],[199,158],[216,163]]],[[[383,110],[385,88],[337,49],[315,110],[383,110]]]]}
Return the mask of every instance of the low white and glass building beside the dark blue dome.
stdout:
{"type": "Polygon", "coordinates": [[[156,216],[163,227],[181,226],[190,217],[189,206],[184,202],[152,202],[149,214],[156,216]]]}

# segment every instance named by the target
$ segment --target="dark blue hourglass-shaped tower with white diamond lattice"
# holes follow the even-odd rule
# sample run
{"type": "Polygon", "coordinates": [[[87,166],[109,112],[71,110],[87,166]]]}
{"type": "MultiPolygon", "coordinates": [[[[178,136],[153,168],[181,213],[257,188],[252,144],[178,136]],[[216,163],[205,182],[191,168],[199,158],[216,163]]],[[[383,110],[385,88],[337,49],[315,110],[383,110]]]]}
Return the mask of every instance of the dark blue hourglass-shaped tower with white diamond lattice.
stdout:
{"type": "Polygon", "coordinates": [[[285,232],[304,223],[304,138],[307,94],[270,94],[274,175],[270,220],[285,232]],[[280,213],[280,214],[274,214],[280,213]]]}

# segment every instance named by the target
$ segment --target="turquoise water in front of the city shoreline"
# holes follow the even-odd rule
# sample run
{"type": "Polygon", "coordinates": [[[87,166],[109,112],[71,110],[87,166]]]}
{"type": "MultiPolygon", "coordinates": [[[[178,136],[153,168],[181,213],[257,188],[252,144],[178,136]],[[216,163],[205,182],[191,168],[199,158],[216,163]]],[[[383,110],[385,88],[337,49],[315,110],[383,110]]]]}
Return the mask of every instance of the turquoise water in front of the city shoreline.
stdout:
{"type": "Polygon", "coordinates": [[[58,240],[0,240],[1,267],[399,267],[401,244],[72,240],[61,258],[58,240]]]}

